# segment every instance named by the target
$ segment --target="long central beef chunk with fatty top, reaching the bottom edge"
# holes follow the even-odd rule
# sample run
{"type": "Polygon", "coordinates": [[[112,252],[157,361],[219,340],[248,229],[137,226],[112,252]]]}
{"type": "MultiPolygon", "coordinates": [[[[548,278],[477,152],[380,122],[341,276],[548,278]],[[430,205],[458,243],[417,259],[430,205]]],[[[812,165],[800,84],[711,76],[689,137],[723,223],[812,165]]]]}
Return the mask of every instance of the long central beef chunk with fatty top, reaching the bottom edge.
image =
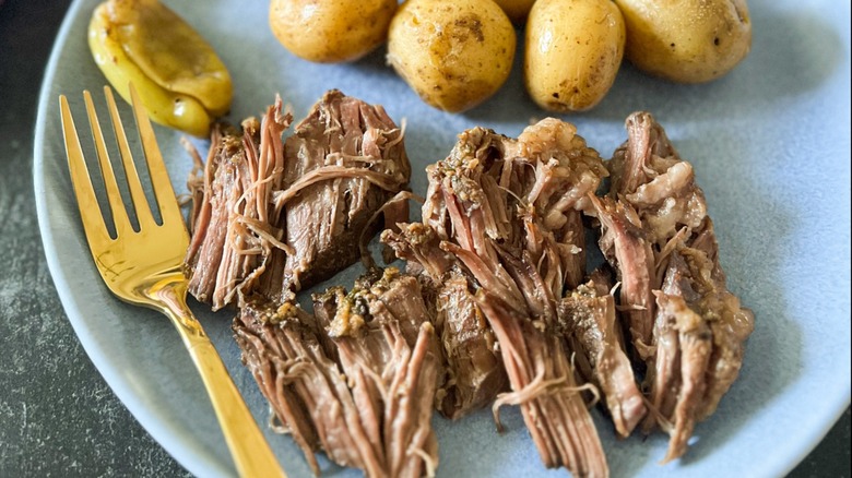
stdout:
{"type": "Polygon", "coordinates": [[[546,466],[606,475],[579,393],[588,386],[575,381],[556,312],[566,285],[583,274],[573,215],[591,207],[587,195],[606,176],[603,163],[572,126],[546,119],[518,140],[465,131],[427,174],[423,224],[383,239],[427,273],[454,262],[470,277],[512,390],[496,401],[495,415],[520,405],[546,466]]]}

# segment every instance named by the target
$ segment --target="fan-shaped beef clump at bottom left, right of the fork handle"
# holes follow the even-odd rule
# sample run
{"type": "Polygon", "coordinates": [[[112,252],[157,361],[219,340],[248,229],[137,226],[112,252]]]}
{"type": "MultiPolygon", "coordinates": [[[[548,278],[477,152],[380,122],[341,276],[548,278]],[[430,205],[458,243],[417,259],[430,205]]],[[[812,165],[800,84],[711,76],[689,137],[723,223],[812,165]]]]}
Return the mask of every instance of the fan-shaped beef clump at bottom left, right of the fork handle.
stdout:
{"type": "Polygon", "coordinates": [[[234,321],[244,363],[275,417],[315,473],[322,449],[368,477],[434,476],[441,371],[416,280],[389,270],[315,300],[312,316],[256,296],[234,321]]]}

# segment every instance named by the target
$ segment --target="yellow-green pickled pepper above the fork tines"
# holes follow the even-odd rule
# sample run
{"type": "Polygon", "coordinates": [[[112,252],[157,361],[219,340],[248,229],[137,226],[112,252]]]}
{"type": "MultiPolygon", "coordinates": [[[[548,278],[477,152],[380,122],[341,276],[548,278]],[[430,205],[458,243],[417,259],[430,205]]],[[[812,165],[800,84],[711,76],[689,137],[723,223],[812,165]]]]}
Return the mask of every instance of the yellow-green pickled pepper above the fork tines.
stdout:
{"type": "Polygon", "coordinates": [[[125,100],[132,82],[151,119],[205,136],[230,108],[230,74],[213,48],[157,0],[109,0],[88,24],[88,47],[125,100]]]}

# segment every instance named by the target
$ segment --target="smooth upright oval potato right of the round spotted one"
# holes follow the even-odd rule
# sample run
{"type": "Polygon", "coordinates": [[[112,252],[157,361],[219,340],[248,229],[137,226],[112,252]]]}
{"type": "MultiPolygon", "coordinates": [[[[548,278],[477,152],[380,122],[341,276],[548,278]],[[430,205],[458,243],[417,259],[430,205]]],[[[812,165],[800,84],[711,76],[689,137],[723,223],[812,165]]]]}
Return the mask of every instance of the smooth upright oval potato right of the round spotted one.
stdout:
{"type": "Polygon", "coordinates": [[[592,108],[615,81],[624,44],[624,19],[612,1],[537,0],[526,19],[526,92],[553,111],[592,108]]]}

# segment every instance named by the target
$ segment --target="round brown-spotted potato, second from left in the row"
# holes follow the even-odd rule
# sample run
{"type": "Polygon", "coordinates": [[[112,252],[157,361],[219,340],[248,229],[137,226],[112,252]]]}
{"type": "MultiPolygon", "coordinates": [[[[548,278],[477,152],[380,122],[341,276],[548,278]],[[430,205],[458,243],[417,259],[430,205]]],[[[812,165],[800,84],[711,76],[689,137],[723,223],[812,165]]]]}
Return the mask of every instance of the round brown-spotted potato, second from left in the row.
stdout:
{"type": "Polygon", "coordinates": [[[419,97],[459,112],[506,82],[517,38],[492,0],[409,0],[388,34],[388,62],[419,97]]]}

